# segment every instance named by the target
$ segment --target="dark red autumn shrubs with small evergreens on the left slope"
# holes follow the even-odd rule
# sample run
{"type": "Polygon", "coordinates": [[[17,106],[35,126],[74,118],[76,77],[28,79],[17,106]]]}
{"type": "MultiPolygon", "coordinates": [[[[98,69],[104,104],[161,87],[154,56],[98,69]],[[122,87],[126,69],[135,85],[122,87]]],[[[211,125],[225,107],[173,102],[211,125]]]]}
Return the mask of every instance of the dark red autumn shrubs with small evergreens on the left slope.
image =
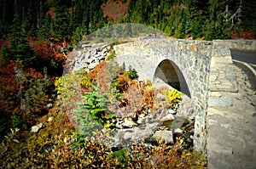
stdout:
{"type": "MultiPolygon", "coordinates": [[[[17,40],[16,40],[17,41],[17,40]]],[[[3,136],[9,127],[31,127],[38,117],[48,112],[47,104],[53,99],[53,79],[61,76],[66,60],[61,53],[61,43],[51,44],[32,39],[20,41],[20,48],[1,40],[0,63],[0,133],[3,136]],[[29,42],[32,65],[18,54],[25,54],[22,42],[29,42]],[[3,46],[4,45],[4,46],[3,46]],[[24,51],[22,51],[24,50],[24,51]],[[7,57],[6,59],[2,56],[7,57]],[[17,54],[17,56],[11,56],[17,54]]],[[[26,43],[24,43],[26,45],[26,43]]],[[[2,137],[0,138],[2,139],[2,137]]]]}

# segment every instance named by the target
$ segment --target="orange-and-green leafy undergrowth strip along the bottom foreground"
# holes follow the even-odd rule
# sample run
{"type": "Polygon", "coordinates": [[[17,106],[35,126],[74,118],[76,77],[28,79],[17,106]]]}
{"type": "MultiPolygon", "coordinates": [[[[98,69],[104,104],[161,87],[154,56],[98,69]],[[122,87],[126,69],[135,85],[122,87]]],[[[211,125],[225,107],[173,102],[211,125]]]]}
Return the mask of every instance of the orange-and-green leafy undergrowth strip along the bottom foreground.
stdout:
{"type": "MultiPolygon", "coordinates": [[[[95,140],[88,140],[78,133],[61,132],[52,138],[30,140],[18,154],[11,154],[10,144],[20,144],[16,139],[18,130],[12,130],[0,148],[1,164],[4,168],[203,168],[206,160],[193,151],[177,151],[173,146],[160,144],[148,147],[133,144],[116,151],[95,140]],[[34,144],[32,144],[34,143],[34,144]]],[[[40,138],[40,137],[39,137],[40,138]]],[[[13,149],[15,150],[15,149],[13,149]]]]}

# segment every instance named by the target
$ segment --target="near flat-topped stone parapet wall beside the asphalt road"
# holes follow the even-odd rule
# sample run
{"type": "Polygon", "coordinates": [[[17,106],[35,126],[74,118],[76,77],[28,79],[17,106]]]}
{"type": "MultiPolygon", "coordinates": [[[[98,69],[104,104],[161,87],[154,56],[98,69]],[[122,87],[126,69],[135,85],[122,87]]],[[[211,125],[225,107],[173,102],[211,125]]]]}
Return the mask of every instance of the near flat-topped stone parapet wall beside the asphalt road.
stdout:
{"type": "MultiPolygon", "coordinates": [[[[207,118],[205,120],[207,125],[206,153],[209,168],[232,166],[233,164],[230,164],[230,161],[233,161],[234,156],[239,154],[239,152],[234,150],[239,149],[239,142],[237,141],[236,143],[234,141],[235,138],[230,137],[234,133],[234,129],[230,127],[233,123],[230,119],[235,118],[236,111],[241,113],[237,107],[239,106],[237,102],[242,103],[243,100],[237,87],[238,82],[230,49],[256,51],[256,41],[213,41],[208,85],[207,118]],[[220,129],[221,131],[216,132],[220,129]],[[216,135],[217,133],[218,136],[216,135]],[[219,158],[220,156],[223,158],[219,158]]],[[[234,164],[236,163],[234,161],[234,164]]]]}

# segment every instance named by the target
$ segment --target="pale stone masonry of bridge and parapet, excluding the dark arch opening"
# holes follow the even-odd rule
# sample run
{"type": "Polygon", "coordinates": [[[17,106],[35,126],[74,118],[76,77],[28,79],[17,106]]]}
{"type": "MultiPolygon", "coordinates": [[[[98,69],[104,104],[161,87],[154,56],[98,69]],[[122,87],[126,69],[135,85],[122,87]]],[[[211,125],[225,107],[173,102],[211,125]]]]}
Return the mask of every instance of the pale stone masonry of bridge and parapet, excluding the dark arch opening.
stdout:
{"type": "MultiPolygon", "coordinates": [[[[253,162],[249,162],[251,158],[248,156],[255,159],[255,149],[248,148],[255,148],[256,130],[253,127],[256,117],[252,113],[255,108],[253,110],[242,99],[230,48],[255,51],[256,41],[165,38],[138,40],[113,47],[119,65],[125,68],[131,65],[140,76],[152,82],[163,61],[169,60],[177,66],[193,101],[195,149],[207,155],[209,168],[250,168],[253,162]],[[240,115],[242,109],[247,110],[249,116],[240,115]],[[247,138],[243,138],[243,133],[247,133],[247,138]],[[242,158],[244,164],[239,159],[241,155],[247,157],[247,161],[242,158]]],[[[178,78],[181,79],[179,75],[178,78]]]]}

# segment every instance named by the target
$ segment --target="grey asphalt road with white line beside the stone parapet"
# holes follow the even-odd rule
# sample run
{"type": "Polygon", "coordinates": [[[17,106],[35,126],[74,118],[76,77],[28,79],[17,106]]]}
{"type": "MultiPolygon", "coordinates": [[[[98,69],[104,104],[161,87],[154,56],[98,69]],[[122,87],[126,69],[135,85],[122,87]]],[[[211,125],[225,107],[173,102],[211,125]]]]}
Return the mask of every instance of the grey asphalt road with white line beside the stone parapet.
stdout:
{"type": "Polygon", "coordinates": [[[252,87],[256,89],[256,51],[230,49],[233,63],[247,74],[252,87]]]}

